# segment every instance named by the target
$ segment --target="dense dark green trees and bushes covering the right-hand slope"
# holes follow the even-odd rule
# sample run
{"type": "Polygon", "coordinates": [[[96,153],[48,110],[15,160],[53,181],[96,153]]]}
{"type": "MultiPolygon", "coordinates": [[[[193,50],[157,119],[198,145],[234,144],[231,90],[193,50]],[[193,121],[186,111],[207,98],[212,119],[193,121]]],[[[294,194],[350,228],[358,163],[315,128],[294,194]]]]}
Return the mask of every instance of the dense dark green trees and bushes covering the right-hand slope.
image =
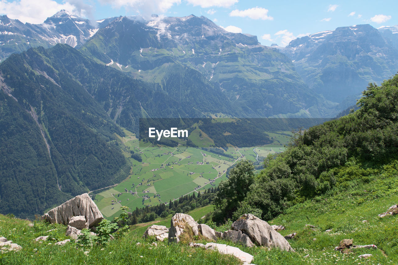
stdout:
{"type": "Polygon", "coordinates": [[[254,174],[239,162],[219,185],[215,222],[252,212],[269,220],[287,207],[363,178],[398,151],[398,74],[381,86],[369,84],[353,113],[308,130],[298,130],[287,150],[270,155],[254,174]]]}

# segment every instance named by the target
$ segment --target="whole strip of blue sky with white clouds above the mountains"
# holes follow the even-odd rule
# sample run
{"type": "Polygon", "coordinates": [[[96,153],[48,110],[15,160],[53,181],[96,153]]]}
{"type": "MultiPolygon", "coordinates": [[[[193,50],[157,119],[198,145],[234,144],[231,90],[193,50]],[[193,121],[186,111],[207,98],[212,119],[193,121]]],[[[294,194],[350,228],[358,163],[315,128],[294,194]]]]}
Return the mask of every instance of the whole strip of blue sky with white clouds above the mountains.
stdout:
{"type": "Polygon", "coordinates": [[[146,18],[151,14],[205,16],[228,31],[256,35],[263,45],[280,46],[336,27],[398,25],[397,0],[0,0],[0,14],[22,22],[42,23],[60,9],[95,20],[137,14],[146,18]]]}

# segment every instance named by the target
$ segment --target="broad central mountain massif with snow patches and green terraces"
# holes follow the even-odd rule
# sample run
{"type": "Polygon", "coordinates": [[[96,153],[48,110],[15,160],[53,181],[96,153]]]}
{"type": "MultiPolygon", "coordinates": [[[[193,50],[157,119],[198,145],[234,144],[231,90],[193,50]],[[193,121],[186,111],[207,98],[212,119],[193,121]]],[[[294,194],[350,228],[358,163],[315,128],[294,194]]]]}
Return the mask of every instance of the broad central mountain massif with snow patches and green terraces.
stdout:
{"type": "Polygon", "coordinates": [[[168,73],[186,78],[176,65],[199,71],[213,86],[211,94],[222,91],[240,117],[321,117],[333,107],[308,89],[289,58],[260,45],[256,36],[229,33],[203,16],[119,18],[80,50],[164,90],[168,73]]]}

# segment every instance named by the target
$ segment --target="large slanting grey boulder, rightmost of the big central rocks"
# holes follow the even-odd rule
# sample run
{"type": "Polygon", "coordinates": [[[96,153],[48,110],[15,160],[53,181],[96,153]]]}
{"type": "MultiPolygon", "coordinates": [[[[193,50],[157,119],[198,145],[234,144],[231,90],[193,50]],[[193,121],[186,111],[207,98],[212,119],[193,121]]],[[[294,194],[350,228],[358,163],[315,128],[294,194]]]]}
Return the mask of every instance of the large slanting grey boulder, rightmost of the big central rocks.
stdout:
{"type": "Polygon", "coordinates": [[[281,234],[273,230],[267,222],[253,214],[243,214],[232,224],[231,228],[236,231],[242,231],[242,234],[248,235],[252,242],[259,246],[278,247],[282,250],[294,251],[281,234]]]}

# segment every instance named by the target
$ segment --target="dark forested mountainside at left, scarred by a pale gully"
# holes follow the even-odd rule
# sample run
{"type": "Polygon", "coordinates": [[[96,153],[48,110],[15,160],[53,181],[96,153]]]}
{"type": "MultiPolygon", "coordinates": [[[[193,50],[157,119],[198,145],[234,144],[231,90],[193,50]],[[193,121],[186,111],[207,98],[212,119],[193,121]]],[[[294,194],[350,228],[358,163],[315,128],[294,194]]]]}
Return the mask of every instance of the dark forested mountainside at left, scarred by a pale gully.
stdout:
{"type": "Polygon", "coordinates": [[[117,126],[78,80],[51,65],[62,47],[31,49],[0,65],[1,212],[42,213],[121,181],[130,168],[107,143],[117,126]]]}

